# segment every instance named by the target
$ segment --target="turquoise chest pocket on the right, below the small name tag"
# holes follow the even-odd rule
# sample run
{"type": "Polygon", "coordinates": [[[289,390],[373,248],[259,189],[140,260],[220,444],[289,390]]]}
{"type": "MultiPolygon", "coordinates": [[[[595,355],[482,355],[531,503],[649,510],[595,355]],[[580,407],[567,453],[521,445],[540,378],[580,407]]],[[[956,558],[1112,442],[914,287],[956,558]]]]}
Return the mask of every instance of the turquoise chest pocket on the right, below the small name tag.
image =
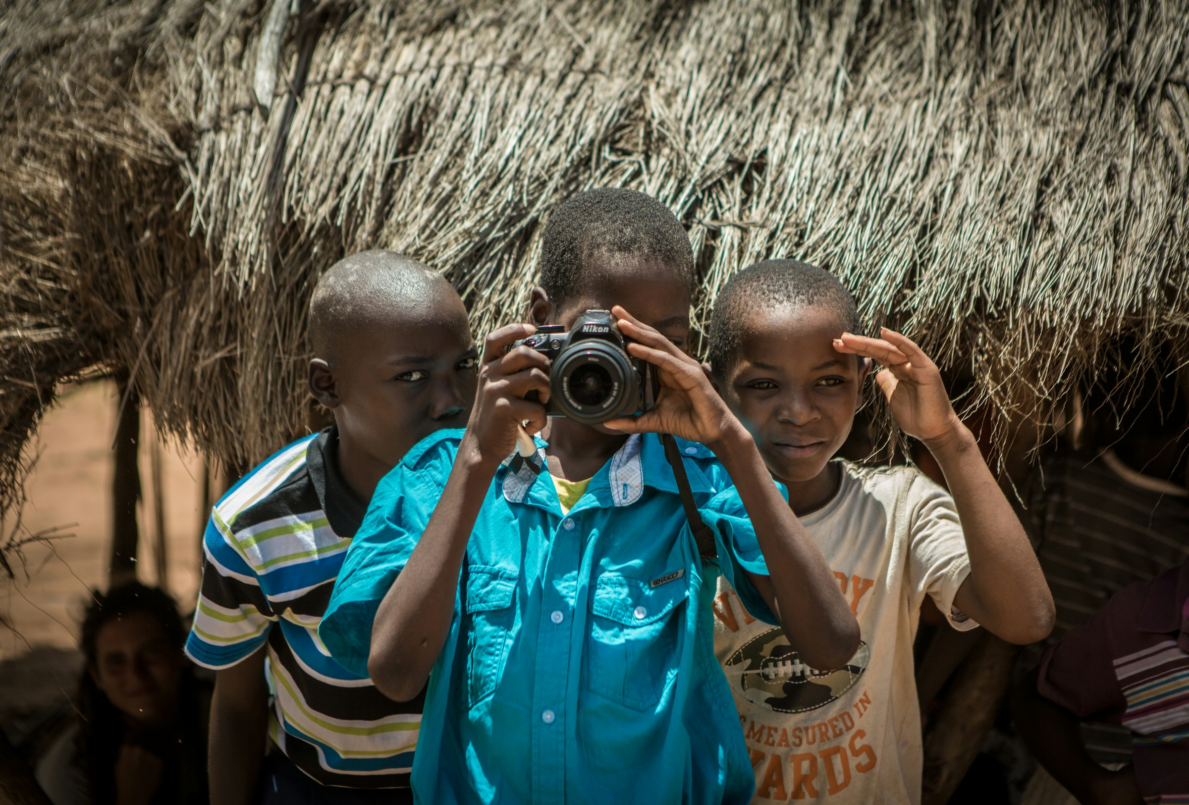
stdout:
{"type": "Polygon", "coordinates": [[[687,596],[684,573],[656,586],[619,573],[599,576],[591,595],[590,688],[634,710],[655,707],[677,679],[687,596]]]}

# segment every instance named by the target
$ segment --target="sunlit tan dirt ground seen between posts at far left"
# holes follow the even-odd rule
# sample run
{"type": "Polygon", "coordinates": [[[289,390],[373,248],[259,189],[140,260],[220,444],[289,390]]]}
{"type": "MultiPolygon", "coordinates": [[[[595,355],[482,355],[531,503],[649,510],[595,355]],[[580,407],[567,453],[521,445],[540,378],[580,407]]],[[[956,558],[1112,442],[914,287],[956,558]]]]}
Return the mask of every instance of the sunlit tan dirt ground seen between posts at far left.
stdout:
{"type": "MultiPolygon", "coordinates": [[[[20,528],[26,533],[61,528],[62,536],[50,545],[29,546],[14,581],[0,578],[0,721],[7,722],[6,728],[75,687],[78,617],[88,591],[107,585],[117,405],[112,383],[73,386],[39,428],[40,457],[25,486],[29,502],[20,528]]],[[[141,415],[140,432],[144,499],[138,512],[138,578],[159,584],[150,472],[155,434],[147,413],[141,415]]],[[[205,465],[176,445],[162,445],[161,455],[166,586],[188,614],[201,573],[205,465]]],[[[12,528],[12,522],[4,523],[2,533],[12,528]]]]}

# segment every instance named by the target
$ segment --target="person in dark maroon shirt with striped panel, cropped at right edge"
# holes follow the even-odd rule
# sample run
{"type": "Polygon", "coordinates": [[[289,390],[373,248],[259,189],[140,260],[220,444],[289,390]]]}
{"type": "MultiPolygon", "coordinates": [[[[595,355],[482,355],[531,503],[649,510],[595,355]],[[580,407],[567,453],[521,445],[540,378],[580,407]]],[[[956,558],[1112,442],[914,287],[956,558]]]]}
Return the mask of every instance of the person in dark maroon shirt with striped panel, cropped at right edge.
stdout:
{"type": "MultiPolygon", "coordinates": [[[[1077,801],[1189,803],[1189,561],[1126,587],[1049,646],[1017,688],[1013,715],[1077,801]],[[1128,728],[1132,762],[1096,763],[1080,719],[1128,728]]],[[[1044,801],[1057,805],[1061,794],[1044,801]]]]}

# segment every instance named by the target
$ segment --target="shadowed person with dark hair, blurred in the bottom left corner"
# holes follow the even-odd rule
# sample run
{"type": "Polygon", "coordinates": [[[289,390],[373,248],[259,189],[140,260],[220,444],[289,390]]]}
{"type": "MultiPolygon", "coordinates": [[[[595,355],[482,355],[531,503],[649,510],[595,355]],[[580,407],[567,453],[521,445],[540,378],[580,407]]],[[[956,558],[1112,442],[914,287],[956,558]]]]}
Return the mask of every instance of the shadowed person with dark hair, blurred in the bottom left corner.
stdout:
{"type": "Polygon", "coordinates": [[[93,593],[78,717],[37,763],[54,805],[207,801],[209,693],[182,653],[177,604],[139,583],[93,593]]]}

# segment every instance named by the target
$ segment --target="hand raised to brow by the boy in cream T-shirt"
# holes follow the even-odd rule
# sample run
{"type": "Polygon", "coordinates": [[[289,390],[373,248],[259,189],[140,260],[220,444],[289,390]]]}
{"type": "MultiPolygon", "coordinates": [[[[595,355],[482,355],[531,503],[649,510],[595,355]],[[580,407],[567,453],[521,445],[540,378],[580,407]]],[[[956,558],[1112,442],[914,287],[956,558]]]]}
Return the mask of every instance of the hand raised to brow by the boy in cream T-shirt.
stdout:
{"type": "Polygon", "coordinates": [[[937,365],[925,352],[900,333],[881,327],[883,338],[843,333],[833,348],[847,354],[872,358],[886,371],[876,371],[875,383],[892,405],[900,429],[927,446],[961,430],[937,365]]]}

